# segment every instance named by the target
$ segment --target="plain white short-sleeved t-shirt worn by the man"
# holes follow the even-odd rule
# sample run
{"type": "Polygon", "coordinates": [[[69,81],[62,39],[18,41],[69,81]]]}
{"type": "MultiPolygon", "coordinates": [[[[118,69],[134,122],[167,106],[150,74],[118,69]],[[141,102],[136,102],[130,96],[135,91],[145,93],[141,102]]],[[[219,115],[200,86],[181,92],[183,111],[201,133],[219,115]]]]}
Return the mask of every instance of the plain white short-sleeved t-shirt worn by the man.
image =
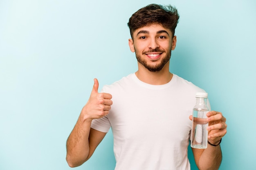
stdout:
{"type": "Polygon", "coordinates": [[[196,92],[203,89],[173,74],[164,85],[149,85],[135,73],[102,92],[112,94],[110,113],[91,128],[112,129],[115,170],[190,170],[187,157],[196,92]]]}

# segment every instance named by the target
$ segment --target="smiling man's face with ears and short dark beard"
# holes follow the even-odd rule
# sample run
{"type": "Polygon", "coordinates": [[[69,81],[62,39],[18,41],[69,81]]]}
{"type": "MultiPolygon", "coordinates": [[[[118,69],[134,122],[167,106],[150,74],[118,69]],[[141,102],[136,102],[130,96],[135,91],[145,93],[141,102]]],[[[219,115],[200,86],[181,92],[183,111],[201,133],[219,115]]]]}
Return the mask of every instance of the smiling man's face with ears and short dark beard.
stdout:
{"type": "Polygon", "coordinates": [[[171,58],[176,36],[172,38],[170,29],[154,24],[137,29],[133,33],[133,40],[129,39],[129,46],[141,65],[150,72],[159,72],[171,58]]]}

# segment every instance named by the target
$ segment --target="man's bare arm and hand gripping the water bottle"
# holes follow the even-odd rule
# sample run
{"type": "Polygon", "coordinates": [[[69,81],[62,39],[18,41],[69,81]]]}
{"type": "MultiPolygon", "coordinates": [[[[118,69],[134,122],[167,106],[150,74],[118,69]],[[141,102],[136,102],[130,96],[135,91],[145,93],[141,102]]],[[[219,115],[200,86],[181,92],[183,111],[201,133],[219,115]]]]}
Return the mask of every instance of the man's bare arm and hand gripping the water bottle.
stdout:
{"type": "MultiPolygon", "coordinates": [[[[214,145],[220,143],[220,139],[227,133],[226,118],[221,112],[211,111],[207,113],[208,141],[214,145]]],[[[192,118],[192,117],[191,117],[192,118]]],[[[213,147],[208,144],[206,149],[192,148],[195,163],[200,170],[218,170],[222,160],[220,145],[213,147]]]]}

